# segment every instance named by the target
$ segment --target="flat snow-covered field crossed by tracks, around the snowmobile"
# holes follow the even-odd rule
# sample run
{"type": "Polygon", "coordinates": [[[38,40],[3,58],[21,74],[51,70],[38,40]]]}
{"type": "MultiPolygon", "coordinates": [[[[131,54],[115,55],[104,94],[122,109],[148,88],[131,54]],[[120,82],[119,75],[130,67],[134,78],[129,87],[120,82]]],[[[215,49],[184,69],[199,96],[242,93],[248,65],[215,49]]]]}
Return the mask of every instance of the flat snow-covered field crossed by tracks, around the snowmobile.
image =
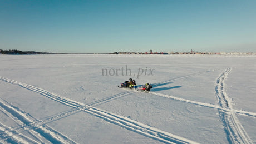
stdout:
{"type": "Polygon", "coordinates": [[[256,56],[0,55],[0,143],[256,143],[255,103],[256,56]]]}

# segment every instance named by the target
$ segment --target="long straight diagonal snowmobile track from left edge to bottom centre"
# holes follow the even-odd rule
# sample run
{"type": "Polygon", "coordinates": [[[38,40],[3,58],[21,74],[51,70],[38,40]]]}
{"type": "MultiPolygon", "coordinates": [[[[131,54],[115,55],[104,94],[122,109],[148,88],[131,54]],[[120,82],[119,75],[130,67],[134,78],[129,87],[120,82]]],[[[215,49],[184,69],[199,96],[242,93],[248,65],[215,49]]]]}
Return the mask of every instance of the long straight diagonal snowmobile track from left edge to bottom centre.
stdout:
{"type": "MultiPolygon", "coordinates": [[[[4,78],[4,77],[0,77],[0,80],[27,88],[28,90],[31,90],[33,92],[40,93],[41,95],[51,98],[52,100],[60,102],[66,106],[70,106],[80,111],[90,113],[94,116],[102,118],[105,121],[114,123],[115,125],[118,125],[122,128],[126,128],[127,130],[134,131],[136,133],[139,133],[140,135],[144,135],[146,137],[152,138],[157,141],[161,141],[164,143],[196,143],[184,137],[176,136],[169,132],[159,130],[157,128],[145,125],[135,120],[131,120],[128,117],[116,115],[115,113],[107,112],[107,111],[101,110],[100,108],[85,105],[83,103],[70,100],[69,98],[56,95],[55,93],[42,90],[41,88],[37,88],[31,85],[27,85],[25,83],[9,80],[8,78],[4,78]]],[[[122,95],[127,95],[127,94],[124,93],[122,95]]],[[[113,98],[114,97],[115,96],[113,96],[113,98]]],[[[110,99],[111,97],[107,98],[106,100],[110,100],[110,99]]],[[[100,102],[103,102],[103,101],[99,101],[99,103],[100,102]]],[[[91,105],[95,105],[95,103],[91,103],[91,105]]],[[[51,135],[51,137],[53,136],[51,135]]]]}

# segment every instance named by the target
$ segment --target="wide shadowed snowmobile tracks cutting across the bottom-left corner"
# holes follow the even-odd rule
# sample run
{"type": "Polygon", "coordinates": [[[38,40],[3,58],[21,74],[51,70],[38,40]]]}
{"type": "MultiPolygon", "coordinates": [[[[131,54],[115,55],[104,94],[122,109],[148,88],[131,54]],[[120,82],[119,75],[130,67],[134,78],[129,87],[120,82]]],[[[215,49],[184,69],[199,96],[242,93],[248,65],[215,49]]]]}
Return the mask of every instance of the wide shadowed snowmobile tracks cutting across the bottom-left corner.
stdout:
{"type": "MultiPolygon", "coordinates": [[[[51,143],[75,143],[70,138],[62,135],[60,132],[53,130],[53,128],[46,125],[37,125],[38,123],[34,122],[34,118],[31,117],[28,113],[19,110],[19,108],[12,106],[10,103],[0,99],[0,108],[8,117],[10,117],[14,122],[16,122],[19,127],[24,131],[28,131],[31,136],[35,137],[38,142],[35,140],[25,137],[27,140],[23,140],[22,143],[44,143],[45,141],[51,143]]],[[[3,133],[9,133],[10,131],[16,132],[16,135],[21,135],[21,129],[13,130],[13,128],[8,128],[3,133]]],[[[1,133],[2,134],[2,133],[1,133]]],[[[6,137],[1,136],[4,140],[12,138],[12,135],[6,137]]]]}

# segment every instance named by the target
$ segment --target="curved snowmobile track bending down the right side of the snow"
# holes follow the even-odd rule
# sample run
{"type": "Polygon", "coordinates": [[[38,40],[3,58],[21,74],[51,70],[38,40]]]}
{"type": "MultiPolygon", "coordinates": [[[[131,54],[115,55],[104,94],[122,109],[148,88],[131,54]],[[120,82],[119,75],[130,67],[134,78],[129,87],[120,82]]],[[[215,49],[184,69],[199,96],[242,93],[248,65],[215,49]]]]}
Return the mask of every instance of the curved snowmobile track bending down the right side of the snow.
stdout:
{"type": "MultiPolygon", "coordinates": [[[[228,68],[226,71],[220,74],[216,80],[215,87],[215,94],[218,98],[219,106],[227,110],[231,110],[233,108],[232,98],[230,98],[225,92],[225,80],[227,79],[230,71],[231,68],[228,68]]],[[[224,112],[223,110],[219,109],[219,116],[223,122],[227,139],[230,143],[253,143],[237,116],[235,116],[235,113],[224,112]]]]}

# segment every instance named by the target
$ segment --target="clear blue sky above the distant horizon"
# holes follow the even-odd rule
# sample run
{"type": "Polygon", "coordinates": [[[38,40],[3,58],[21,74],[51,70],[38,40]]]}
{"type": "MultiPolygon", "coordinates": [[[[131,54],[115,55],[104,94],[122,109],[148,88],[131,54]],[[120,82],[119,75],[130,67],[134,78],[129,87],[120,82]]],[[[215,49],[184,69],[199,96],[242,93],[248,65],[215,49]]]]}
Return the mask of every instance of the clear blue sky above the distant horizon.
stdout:
{"type": "Polygon", "coordinates": [[[256,52],[256,1],[4,1],[0,49],[256,52]]]}

